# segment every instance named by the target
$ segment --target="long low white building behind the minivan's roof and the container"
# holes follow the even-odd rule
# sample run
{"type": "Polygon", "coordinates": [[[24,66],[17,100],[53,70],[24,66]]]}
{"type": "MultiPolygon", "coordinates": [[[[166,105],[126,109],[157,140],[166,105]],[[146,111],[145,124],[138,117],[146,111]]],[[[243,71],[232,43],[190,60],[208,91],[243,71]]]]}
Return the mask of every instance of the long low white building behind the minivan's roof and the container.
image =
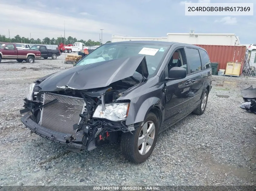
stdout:
{"type": "Polygon", "coordinates": [[[132,41],[132,40],[157,40],[168,42],[179,42],[188,44],[204,44],[204,45],[240,45],[239,37],[235,34],[221,33],[167,33],[167,37],[145,38],[145,37],[121,37],[112,35],[112,42],[132,41]]]}

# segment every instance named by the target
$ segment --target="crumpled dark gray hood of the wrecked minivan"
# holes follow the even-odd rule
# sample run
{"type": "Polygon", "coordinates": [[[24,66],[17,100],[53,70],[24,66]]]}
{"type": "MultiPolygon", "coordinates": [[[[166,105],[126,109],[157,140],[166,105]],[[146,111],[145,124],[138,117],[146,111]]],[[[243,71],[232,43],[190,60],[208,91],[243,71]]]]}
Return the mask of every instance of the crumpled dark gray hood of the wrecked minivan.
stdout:
{"type": "Polygon", "coordinates": [[[77,90],[102,88],[132,76],[135,71],[148,78],[145,56],[132,56],[74,66],[49,76],[39,84],[39,87],[42,91],[60,91],[64,90],[65,86],[77,90]]]}

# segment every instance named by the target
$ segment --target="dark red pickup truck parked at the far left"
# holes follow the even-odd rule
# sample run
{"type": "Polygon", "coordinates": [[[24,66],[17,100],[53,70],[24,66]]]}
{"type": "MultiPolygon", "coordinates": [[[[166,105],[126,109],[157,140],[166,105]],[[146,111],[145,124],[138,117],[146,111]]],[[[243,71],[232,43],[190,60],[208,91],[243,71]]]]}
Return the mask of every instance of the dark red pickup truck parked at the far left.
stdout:
{"type": "Polygon", "coordinates": [[[0,62],[2,59],[13,60],[18,62],[26,61],[35,62],[35,59],[41,58],[41,52],[37,50],[19,50],[14,43],[0,43],[0,62]]]}

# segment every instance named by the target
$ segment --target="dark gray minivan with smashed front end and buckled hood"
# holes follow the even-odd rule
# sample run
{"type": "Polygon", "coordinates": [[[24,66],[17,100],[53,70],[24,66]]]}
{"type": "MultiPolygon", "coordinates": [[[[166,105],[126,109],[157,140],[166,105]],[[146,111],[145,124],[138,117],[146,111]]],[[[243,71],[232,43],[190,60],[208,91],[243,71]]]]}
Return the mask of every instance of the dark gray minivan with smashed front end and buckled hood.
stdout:
{"type": "Polygon", "coordinates": [[[20,113],[32,132],[69,150],[120,139],[125,158],[141,163],[160,132],[191,112],[204,113],[210,90],[211,62],[199,46],[107,43],[33,82],[20,113]]]}

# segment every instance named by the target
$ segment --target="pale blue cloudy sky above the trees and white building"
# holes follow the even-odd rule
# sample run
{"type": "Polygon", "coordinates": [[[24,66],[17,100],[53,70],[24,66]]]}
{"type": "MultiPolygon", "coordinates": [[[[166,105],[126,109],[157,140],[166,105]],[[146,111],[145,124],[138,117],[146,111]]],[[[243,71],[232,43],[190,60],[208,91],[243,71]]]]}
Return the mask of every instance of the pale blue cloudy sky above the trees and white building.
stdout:
{"type": "MultiPolygon", "coordinates": [[[[255,0],[1,0],[0,34],[34,39],[65,36],[99,40],[111,35],[166,37],[167,33],[235,33],[256,42],[254,16],[185,16],[185,2],[253,3],[255,0]]],[[[256,2],[255,2],[256,3],[256,2]]],[[[254,3],[254,4],[255,4],[254,3]]],[[[255,5],[254,5],[255,7],[255,5]]]]}

